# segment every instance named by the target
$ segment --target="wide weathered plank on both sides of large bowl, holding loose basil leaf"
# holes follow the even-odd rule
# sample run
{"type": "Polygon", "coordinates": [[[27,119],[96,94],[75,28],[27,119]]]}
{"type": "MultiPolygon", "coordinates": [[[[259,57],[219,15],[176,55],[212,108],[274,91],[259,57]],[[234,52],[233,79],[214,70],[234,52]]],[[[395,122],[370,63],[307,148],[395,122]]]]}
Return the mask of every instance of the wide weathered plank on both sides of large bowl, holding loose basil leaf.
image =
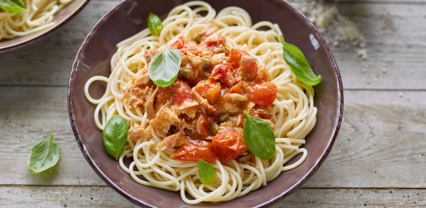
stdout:
{"type": "MultiPolygon", "coordinates": [[[[339,136],[304,187],[426,188],[426,92],[345,91],[339,136]]],[[[105,185],[83,158],[65,87],[0,87],[0,185],[105,185]],[[26,168],[32,145],[54,131],[60,162],[26,168]],[[72,168],[71,168],[72,167],[72,168]]],[[[309,140],[307,141],[309,142],[309,140]]]]}

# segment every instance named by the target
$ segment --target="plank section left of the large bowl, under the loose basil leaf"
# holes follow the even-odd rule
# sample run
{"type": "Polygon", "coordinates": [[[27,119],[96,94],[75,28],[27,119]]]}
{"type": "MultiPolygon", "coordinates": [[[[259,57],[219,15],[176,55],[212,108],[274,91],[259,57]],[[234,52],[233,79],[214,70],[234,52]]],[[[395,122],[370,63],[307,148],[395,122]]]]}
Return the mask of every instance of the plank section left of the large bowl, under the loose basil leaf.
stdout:
{"type": "Polygon", "coordinates": [[[0,87],[0,184],[105,185],[83,157],[71,130],[67,88],[0,87]],[[60,160],[40,174],[26,166],[33,144],[49,136],[60,160]]]}

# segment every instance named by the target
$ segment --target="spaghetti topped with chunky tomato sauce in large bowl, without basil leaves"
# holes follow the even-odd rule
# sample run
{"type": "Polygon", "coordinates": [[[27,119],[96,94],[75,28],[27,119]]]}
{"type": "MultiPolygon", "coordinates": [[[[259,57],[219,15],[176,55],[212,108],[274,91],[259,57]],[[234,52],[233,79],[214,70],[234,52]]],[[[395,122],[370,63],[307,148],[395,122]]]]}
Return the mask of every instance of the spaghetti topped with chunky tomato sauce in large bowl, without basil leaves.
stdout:
{"type": "Polygon", "coordinates": [[[306,159],[306,149],[299,147],[315,125],[314,91],[285,63],[277,24],[252,25],[239,7],[216,15],[208,3],[190,1],[173,8],[163,25],[158,37],[144,29],[118,43],[111,75],[94,76],[85,86],[87,99],[97,104],[98,128],[115,114],[129,124],[119,157],[124,171],[142,185],[180,191],[186,203],[196,204],[243,196],[306,159]],[[176,81],[161,88],[147,68],[166,44],[180,49],[182,63],[176,81]],[[88,92],[96,80],[107,82],[97,100],[88,92]],[[243,111],[271,125],[276,138],[271,160],[247,150],[243,111]],[[297,162],[285,165],[298,154],[297,162]],[[130,166],[125,157],[133,158],[130,166]],[[213,164],[213,184],[200,182],[198,159],[213,164]]]}

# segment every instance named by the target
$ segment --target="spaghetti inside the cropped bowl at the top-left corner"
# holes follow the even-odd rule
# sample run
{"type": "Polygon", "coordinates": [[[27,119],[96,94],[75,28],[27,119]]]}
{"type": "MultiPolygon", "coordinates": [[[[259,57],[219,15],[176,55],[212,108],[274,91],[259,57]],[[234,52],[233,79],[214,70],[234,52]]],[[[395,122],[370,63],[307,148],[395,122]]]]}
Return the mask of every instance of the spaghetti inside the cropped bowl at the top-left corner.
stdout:
{"type": "Polygon", "coordinates": [[[53,15],[71,1],[24,0],[26,11],[23,13],[0,8],[0,40],[26,36],[53,26],[53,15]]]}

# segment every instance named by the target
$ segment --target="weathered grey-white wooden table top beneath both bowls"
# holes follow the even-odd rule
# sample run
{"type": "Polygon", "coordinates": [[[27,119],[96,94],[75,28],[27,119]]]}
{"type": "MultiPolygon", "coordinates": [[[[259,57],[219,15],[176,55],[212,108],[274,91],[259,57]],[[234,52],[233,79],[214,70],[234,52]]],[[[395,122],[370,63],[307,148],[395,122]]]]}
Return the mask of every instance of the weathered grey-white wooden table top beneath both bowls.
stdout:
{"type": "MultiPolygon", "coordinates": [[[[53,35],[0,54],[0,207],[136,207],[86,162],[67,111],[75,54],[117,3],[92,0],[53,35]],[[33,175],[28,154],[50,131],[60,160],[33,175]]],[[[356,57],[355,47],[331,47],[345,95],[339,136],[315,175],[273,207],[426,206],[426,0],[338,6],[365,36],[368,58],[356,57]]]]}

